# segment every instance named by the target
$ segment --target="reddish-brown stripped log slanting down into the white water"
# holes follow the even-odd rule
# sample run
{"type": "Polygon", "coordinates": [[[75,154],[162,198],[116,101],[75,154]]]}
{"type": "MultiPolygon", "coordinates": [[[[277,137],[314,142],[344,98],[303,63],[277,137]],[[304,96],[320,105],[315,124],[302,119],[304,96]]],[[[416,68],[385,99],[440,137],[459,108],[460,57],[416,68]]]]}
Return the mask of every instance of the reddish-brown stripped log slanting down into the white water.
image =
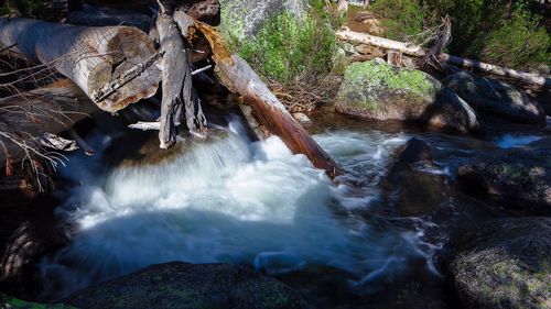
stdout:
{"type": "Polygon", "coordinates": [[[193,23],[193,19],[185,13],[180,13],[179,18],[186,20],[184,24],[194,24],[206,36],[213,59],[226,76],[222,78],[223,82],[226,80],[225,86],[236,89],[251,106],[260,125],[281,137],[293,153],[306,155],[315,167],[324,169],[329,177],[341,174],[338,165],[287,111],[247,62],[228,51],[215,29],[202,22],[193,23]]]}

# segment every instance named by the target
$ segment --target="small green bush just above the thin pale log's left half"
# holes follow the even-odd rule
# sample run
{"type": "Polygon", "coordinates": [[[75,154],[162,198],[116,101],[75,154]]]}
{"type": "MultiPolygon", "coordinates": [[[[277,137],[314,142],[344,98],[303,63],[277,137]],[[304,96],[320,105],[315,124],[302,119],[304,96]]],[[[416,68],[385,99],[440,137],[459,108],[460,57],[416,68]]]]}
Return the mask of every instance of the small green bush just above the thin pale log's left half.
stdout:
{"type": "Polygon", "coordinates": [[[403,40],[423,30],[423,13],[417,0],[379,0],[372,10],[383,18],[389,38],[403,40]]]}

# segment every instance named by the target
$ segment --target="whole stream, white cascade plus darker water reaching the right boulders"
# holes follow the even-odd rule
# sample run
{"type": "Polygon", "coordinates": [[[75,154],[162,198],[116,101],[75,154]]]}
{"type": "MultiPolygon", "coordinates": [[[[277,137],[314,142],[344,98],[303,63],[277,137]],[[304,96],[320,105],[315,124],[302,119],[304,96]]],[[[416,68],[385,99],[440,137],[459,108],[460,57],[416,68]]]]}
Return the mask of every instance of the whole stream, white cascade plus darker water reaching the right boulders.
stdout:
{"type": "Polygon", "coordinates": [[[335,282],[344,290],[407,308],[396,305],[397,295],[406,294],[404,304],[425,301],[419,294],[429,298],[429,286],[440,289],[440,262],[455,234],[506,216],[460,191],[454,167],[539,139],[479,141],[334,114],[314,123],[314,139],[347,170],[336,184],[278,137],[249,141],[235,117],[212,129],[207,141],[180,141],[162,155],[154,133],[132,132],[138,143],[95,129],[86,140],[96,155],[73,154],[60,168],[56,214],[72,223],[72,241],[42,258],[41,298],[184,261],[250,265],[295,285],[298,272],[309,271],[312,285],[327,272],[343,274],[335,282]],[[434,163],[415,167],[419,184],[386,188],[393,155],[411,137],[432,146],[434,163]],[[400,195],[408,195],[406,202],[400,195]]]}

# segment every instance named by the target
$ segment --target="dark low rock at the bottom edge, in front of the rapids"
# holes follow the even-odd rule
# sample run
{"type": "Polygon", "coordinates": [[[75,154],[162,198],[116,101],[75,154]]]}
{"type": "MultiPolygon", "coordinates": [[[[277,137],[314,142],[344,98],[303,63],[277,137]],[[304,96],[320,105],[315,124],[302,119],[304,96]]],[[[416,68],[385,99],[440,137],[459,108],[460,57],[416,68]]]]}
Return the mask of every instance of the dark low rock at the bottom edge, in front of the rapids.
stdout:
{"type": "Polygon", "coordinates": [[[78,308],[303,308],[278,279],[227,264],[152,265],[62,300],[78,308]]]}

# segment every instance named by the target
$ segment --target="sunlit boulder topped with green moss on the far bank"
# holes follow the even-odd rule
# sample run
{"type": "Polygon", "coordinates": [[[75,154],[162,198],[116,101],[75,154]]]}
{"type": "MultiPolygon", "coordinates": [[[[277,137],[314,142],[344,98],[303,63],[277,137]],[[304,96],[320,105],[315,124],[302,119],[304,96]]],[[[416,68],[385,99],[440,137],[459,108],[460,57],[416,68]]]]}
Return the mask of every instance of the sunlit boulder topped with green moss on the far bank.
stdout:
{"type": "Polygon", "coordinates": [[[480,129],[473,109],[432,76],[371,60],[345,71],[336,110],[369,120],[412,121],[475,133],[480,129]]]}

